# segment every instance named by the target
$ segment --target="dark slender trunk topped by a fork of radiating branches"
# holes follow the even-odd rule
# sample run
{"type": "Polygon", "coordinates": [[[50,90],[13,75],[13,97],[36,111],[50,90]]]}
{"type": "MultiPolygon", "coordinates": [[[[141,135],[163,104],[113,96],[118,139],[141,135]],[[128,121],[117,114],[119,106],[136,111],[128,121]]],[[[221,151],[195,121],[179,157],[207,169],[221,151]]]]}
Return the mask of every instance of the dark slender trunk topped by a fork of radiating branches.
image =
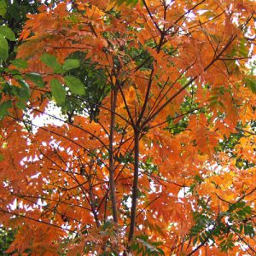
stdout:
{"type": "Polygon", "coordinates": [[[137,195],[138,195],[138,169],[139,169],[139,131],[134,129],[134,177],[131,195],[131,224],[129,230],[128,241],[132,241],[134,236],[137,212],[137,195]]]}

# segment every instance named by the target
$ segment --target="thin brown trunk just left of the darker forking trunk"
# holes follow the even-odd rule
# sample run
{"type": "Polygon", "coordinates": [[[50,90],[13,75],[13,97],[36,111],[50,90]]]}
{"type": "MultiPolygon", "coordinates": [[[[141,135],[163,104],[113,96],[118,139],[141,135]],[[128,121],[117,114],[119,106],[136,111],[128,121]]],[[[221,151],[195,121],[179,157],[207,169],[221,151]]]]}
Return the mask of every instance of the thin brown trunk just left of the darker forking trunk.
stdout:
{"type": "Polygon", "coordinates": [[[109,187],[110,187],[110,197],[112,201],[112,214],[113,221],[118,223],[117,215],[117,201],[116,201],[116,191],[114,182],[114,159],[113,159],[113,131],[115,124],[115,108],[117,101],[117,90],[113,89],[111,91],[111,121],[110,121],[110,132],[109,132],[109,187]]]}

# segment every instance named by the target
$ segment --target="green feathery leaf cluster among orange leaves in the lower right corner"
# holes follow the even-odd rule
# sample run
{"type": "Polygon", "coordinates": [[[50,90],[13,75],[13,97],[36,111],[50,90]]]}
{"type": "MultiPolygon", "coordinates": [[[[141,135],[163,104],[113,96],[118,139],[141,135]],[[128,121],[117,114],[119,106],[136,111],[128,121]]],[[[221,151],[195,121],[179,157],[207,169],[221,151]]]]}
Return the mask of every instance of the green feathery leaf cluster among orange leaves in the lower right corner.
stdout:
{"type": "Polygon", "coordinates": [[[227,212],[219,212],[214,216],[211,207],[200,201],[201,212],[194,212],[195,225],[190,230],[194,246],[198,243],[215,244],[220,241],[219,246],[223,252],[227,252],[235,246],[234,235],[255,236],[253,223],[251,221],[252,209],[245,201],[237,201],[230,204],[227,212]]]}

